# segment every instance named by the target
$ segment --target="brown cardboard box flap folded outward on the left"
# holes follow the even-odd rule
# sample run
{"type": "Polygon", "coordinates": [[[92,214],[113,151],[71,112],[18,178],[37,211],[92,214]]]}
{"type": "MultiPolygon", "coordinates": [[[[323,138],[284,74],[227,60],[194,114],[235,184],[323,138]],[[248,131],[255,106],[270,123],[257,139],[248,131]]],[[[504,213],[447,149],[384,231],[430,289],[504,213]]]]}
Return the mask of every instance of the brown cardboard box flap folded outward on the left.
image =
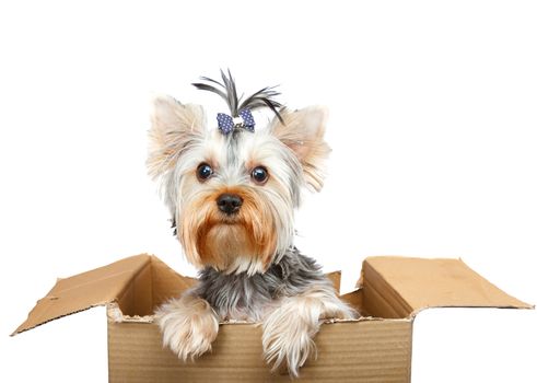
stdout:
{"type": "Polygon", "coordinates": [[[119,300],[128,306],[129,298],[139,295],[132,293],[132,289],[148,289],[145,295],[149,297],[145,301],[148,310],[151,310],[154,295],[166,290],[166,285],[173,283],[179,289],[185,289],[192,282],[191,278],[179,276],[154,256],[140,254],[124,258],[94,270],[58,279],[55,287],[45,298],[37,301],[27,320],[12,335],[61,316],[119,300]],[[157,283],[152,283],[154,272],[165,277],[160,278],[157,283]]]}

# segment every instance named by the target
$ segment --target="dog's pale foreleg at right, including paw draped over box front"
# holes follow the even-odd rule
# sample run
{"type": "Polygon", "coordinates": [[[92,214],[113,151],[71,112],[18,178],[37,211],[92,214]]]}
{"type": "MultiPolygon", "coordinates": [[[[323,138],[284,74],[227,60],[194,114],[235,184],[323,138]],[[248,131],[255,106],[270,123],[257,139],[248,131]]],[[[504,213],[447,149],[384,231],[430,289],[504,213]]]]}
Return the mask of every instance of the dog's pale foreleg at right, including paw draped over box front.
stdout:
{"type": "Polygon", "coordinates": [[[272,371],[285,362],[291,376],[297,376],[299,368],[315,352],[313,338],[320,320],[355,317],[331,287],[314,287],[300,295],[283,298],[280,303],[262,324],[262,348],[267,362],[273,362],[272,371]]]}

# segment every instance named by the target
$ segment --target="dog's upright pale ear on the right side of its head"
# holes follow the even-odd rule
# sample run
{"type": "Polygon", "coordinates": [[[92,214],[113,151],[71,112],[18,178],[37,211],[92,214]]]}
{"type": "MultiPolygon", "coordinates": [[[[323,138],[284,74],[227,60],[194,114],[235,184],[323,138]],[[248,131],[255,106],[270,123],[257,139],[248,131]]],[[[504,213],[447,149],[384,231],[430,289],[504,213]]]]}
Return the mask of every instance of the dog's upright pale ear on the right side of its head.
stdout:
{"type": "Polygon", "coordinates": [[[295,112],[283,109],[280,115],[283,123],[275,117],[269,127],[271,134],[294,152],[306,183],[319,192],[323,188],[324,161],[330,153],[324,139],[328,109],[310,106],[295,112]]]}

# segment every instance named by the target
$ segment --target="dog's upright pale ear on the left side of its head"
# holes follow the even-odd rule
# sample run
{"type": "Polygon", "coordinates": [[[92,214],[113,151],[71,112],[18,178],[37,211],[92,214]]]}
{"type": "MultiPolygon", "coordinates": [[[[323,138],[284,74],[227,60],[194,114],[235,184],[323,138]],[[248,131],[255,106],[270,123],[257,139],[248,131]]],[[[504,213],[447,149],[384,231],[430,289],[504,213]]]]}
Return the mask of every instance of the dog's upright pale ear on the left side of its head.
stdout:
{"type": "Polygon", "coordinates": [[[184,105],[171,96],[154,98],[147,161],[150,176],[157,178],[173,169],[188,147],[203,139],[205,126],[200,105],[184,105]]]}

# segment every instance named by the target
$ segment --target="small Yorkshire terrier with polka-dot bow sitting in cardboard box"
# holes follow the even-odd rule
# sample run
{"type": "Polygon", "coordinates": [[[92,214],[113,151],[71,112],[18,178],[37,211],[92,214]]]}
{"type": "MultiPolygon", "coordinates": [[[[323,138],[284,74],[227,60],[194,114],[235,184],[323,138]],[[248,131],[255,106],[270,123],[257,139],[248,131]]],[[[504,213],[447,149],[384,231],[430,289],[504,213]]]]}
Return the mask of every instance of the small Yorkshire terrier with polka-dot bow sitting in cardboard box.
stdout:
{"type": "Polygon", "coordinates": [[[206,128],[203,108],[157,97],[148,167],[160,182],[186,258],[199,283],[155,313],[163,344],[184,361],[211,350],[219,323],[262,324],[262,349],[272,371],[297,376],[323,320],[351,320],[320,266],[293,245],[293,212],[304,187],[319,192],[327,111],[290,112],[264,88],[241,102],[234,79],[201,78],[197,89],[222,96],[231,116],[206,128]],[[253,111],[275,113],[265,129],[253,111]]]}

